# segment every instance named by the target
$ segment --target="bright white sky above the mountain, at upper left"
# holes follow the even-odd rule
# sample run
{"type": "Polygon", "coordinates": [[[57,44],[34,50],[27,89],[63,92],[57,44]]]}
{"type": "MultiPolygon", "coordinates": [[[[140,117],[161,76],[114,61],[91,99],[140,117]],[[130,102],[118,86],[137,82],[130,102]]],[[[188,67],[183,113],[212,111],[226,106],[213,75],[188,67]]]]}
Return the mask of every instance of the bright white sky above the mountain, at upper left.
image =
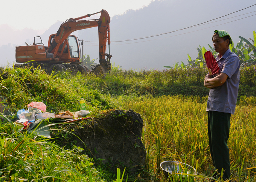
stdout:
{"type": "MultiPolygon", "coordinates": [[[[8,0],[2,2],[0,25],[22,30],[32,28],[43,33],[57,21],[107,10],[110,17],[128,9],[148,6],[151,0],[8,0]]],[[[1,35],[2,36],[2,35],[1,35]]]]}

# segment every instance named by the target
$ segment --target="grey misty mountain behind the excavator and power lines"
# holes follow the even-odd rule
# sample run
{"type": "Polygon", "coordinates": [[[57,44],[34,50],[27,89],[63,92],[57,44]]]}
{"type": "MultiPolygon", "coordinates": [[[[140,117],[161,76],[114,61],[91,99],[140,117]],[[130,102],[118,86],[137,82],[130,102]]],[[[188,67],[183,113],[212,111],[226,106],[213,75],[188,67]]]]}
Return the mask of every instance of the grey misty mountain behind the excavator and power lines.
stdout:
{"type": "MultiPolygon", "coordinates": [[[[228,31],[235,44],[240,40],[238,36],[252,38],[253,30],[256,30],[256,24],[252,23],[254,22],[254,16],[250,18],[244,17],[251,14],[239,17],[233,16],[255,11],[256,6],[225,16],[225,18],[207,22],[204,25],[186,27],[251,6],[254,4],[253,1],[151,1],[148,6],[139,10],[128,10],[123,15],[113,16],[110,22],[110,54],[113,55],[111,62],[116,66],[122,66],[124,69],[164,69],[163,66],[173,66],[173,64],[181,63],[181,61],[187,64],[187,54],[192,59],[197,58],[198,52],[196,48],[199,45],[209,49],[208,44],[212,46],[211,39],[214,30],[228,31]],[[244,19],[235,21],[239,18],[244,19]],[[179,30],[183,28],[186,29],[179,30]],[[174,32],[169,33],[171,31],[174,32]],[[155,36],[158,34],[163,35],[155,36]],[[147,36],[152,37],[119,42],[147,36]]],[[[44,45],[47,45],[50,34],[56,33],[61,23],[56,22],[41,35],[44,45]]],[[[23,42],[29,39],[28,43],[32,44],[34,42],[34,34],[30,33],[29,36],[21,34],[19,36],[23,37],[23,42]]],[[[80,40],[87,41],[84,42],[84,54],[90,55],[91,59],[99,58],[98,43],[95,43],[98,41],[97,27],[75,31],[73,34],[78,36],[80,40]]],[[[0,60],[0,64],[6,63],[6,60],[15,60],[14,47],[19,42],[16,44],[14,42],[9,43],[0,47],[0,53],[4,55],[0,60]],[[12,52],[10,53],[9,51],[12,52]]],[[[106,52],[108,53],[108,46],[106,52]]]]}

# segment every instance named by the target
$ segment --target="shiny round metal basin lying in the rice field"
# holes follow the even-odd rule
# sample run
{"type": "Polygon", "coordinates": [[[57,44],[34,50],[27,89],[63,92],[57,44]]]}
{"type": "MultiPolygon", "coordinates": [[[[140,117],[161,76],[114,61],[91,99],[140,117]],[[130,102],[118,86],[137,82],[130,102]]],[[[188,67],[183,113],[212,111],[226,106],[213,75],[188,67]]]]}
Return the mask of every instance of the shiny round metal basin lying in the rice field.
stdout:
{"type": "Polygon", "coordinates": [[[163,173],[167,176],[168,173],[172,174],[172,172],[197,175],[197,170],[195,170],[195,168],[189,166],[188,164],[180,163],[177,161],[163,161],[160,164],[160,167],[162,168],[163,173]]]}

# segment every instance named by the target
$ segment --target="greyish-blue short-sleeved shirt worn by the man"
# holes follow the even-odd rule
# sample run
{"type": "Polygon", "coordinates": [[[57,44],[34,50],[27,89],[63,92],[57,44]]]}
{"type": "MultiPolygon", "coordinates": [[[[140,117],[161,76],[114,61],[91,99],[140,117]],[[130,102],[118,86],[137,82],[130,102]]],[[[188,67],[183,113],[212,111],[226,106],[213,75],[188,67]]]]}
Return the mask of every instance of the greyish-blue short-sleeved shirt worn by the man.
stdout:
{"type": "Polygon", "coordinates": [[[228,49],[221,58],[218,55],[216,61],[219,73],[225,73],[228,78],[223,85],[210,89],[206,111],[234,114],[238,96],[240,60],[228,49]]]}

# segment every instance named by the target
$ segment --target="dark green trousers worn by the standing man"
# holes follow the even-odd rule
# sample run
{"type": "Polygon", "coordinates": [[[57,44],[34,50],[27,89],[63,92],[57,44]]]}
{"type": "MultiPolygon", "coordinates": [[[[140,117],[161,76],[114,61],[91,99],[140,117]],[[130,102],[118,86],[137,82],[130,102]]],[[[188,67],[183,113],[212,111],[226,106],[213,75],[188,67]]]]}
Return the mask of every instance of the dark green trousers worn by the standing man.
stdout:
{"type": "Polygon", "coordinates": [[[215,170],[218,169],[219,173],[215,176],[216,179],[220,177],[222,168],[225,170],[222,178],[224,180],[230,178],[229,147],[227,146],[230,117],[230,113],[208,111],[210,152],[215,170]]]}

